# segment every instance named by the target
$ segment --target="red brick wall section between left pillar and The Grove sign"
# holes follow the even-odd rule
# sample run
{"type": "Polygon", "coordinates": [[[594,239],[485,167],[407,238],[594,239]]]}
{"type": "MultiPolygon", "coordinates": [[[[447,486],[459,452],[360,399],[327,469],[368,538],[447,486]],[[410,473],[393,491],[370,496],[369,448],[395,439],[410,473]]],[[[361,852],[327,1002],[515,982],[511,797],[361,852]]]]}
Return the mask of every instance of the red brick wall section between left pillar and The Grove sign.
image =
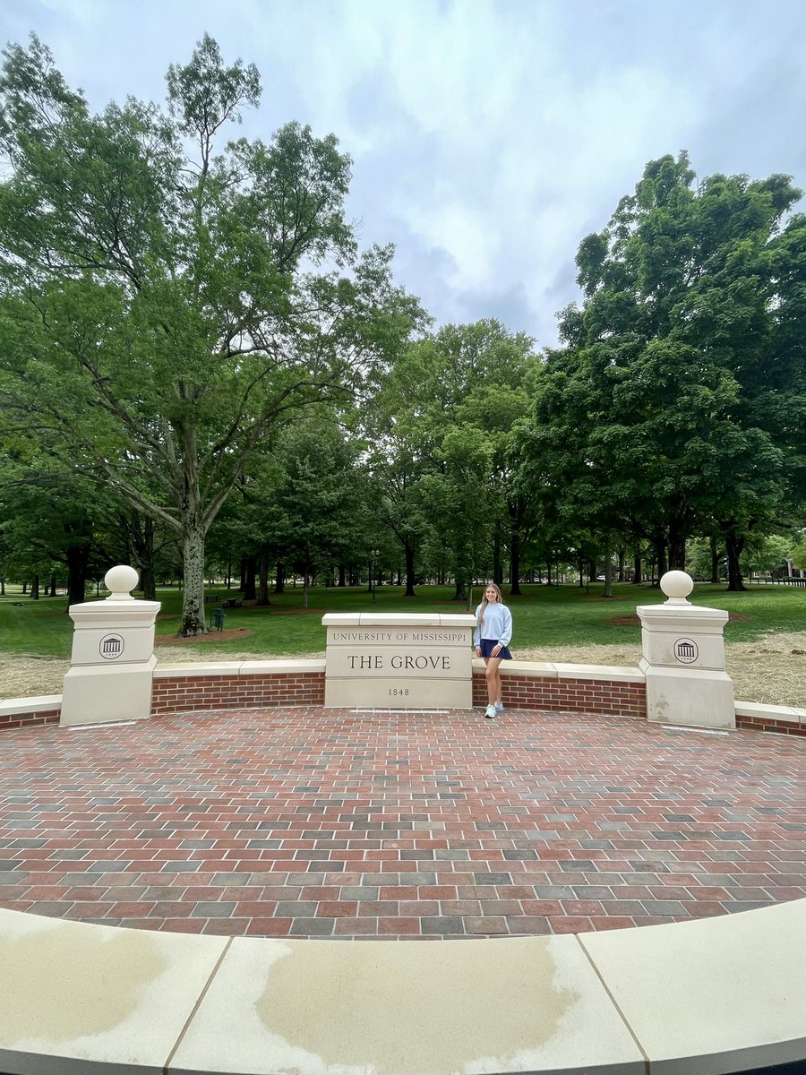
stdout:
{"type": "Polygon", "coordinates": [[[323,705],[325,672],[155,678],[152,713],[323,705]]]}

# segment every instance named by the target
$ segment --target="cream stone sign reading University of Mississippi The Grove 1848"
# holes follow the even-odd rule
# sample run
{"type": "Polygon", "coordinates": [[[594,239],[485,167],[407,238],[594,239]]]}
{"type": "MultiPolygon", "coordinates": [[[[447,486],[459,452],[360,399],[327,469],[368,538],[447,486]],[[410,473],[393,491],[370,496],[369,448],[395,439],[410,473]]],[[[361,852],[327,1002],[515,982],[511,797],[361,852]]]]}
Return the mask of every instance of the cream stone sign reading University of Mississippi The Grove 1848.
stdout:
{"type": "Polygon", "coordinates": [[[475,617],[328,613],[326,706],[469,710],[475,617]]]}

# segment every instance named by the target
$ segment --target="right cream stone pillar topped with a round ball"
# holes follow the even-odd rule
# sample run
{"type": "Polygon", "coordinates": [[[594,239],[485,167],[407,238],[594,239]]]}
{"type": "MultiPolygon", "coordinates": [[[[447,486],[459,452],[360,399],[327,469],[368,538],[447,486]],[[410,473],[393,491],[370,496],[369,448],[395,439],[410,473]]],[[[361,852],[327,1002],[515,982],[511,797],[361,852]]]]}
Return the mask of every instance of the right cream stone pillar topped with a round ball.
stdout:
{"type": "Polygon", "coordinates": [[[638,605],[639,668],[647,684],[647,716],[663,725],[735,728],[733,683],[724,670],[722,629],[728,613],[692,605],[694,583],[685,571],[668,571],[662,605],[638,605]]]}

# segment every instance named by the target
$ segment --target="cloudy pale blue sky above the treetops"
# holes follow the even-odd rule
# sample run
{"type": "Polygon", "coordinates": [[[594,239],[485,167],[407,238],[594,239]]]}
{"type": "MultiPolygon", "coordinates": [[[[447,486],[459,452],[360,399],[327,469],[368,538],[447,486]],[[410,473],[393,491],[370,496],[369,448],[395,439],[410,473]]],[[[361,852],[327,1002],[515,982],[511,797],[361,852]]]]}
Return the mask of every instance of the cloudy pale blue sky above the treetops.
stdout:
{"type": "Polygon", "coordinates": [[[240,133],[336,134],[362,241],[437,325],[552,344],[580,239],[663,154],[806,187],[804,0],[0,0],[2,41],[31,31],[96,108],[162,100],[205,31],[255,62],[240,133]]]}

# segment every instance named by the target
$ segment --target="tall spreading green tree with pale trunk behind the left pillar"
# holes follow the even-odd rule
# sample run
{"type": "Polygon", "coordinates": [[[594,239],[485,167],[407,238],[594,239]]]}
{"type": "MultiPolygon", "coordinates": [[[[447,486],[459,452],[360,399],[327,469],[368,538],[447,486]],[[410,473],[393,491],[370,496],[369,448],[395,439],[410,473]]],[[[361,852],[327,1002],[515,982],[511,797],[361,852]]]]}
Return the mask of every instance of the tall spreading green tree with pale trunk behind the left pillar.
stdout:
{"type": "Polygon", "coordinates": [[[168,109],[98,115],[32,38],[0,77],[0,406],[181,538],[179,633],[206,630],[207,530],[289,415],[393,353],[419,316],[389,249],[359,256],[350,162],[288,124],[216,140],[260,94],[205,37],[168,109]]]}

